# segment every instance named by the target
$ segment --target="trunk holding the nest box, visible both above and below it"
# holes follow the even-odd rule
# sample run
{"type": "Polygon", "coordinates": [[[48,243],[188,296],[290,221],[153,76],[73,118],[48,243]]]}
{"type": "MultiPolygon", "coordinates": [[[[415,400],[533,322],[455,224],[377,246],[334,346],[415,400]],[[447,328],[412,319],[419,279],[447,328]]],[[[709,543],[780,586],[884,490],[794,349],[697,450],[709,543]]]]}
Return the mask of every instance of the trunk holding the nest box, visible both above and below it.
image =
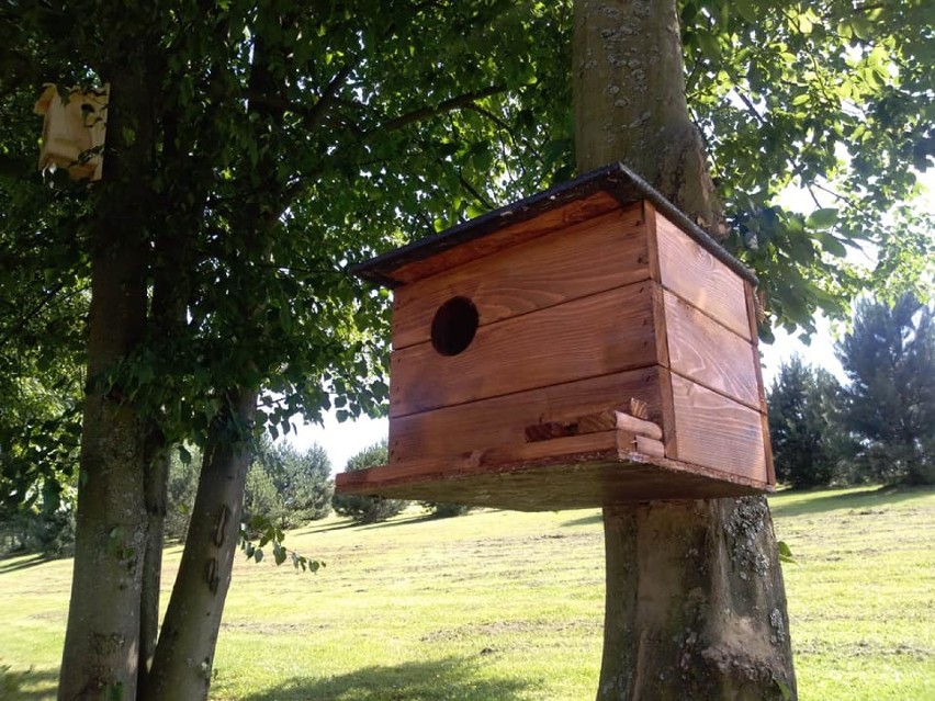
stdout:
{"type": "MultiPolygon", "coordinates": [[[[720,238],[685,99],[675,0],[576,0],[577,166],[622,160],[720,238]]],[[[778,549],[762,497],[605,509],[598,701],[795,699],[778,549]]]]}

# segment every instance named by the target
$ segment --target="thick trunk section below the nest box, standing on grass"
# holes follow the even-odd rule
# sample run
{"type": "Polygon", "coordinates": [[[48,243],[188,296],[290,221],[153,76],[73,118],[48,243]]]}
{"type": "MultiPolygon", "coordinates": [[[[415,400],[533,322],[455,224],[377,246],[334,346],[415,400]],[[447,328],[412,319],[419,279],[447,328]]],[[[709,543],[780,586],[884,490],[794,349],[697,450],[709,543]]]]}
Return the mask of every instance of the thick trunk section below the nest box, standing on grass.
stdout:
{"type": "Polygon", "coordinates": [[[604,528],[598,700],[795,698],[786,595],[764,498],[608,508],[604,528]]]}

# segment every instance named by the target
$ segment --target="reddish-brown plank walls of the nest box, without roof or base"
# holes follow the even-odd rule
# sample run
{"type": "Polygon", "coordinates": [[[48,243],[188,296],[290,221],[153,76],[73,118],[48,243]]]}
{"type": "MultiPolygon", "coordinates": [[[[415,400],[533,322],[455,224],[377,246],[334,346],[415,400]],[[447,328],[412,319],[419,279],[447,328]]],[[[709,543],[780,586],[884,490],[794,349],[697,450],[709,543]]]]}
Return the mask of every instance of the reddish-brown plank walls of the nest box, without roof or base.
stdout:
{"type": "Polygon", "coordinates": [[[519,445],[527,426],[635,397],[667,459],[771,478],[748,284],[652,205],[608,210],[559,210],[506,248],[510,229],[408,271],[395,291],[391,465],[519,445]],[[446,357],[430,328],[454,296],[480,326],[446,357]]]}

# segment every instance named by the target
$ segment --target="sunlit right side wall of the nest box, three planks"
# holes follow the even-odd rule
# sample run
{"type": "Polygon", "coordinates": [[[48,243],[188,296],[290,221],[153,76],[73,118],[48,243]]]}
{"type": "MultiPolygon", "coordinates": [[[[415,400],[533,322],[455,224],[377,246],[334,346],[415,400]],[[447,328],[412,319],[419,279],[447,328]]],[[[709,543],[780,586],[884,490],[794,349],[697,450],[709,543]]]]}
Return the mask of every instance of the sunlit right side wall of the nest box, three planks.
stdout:
{"type": "Polygon", "coordinates": [[[664,287],[666,456],[775,484],[753,290],[646,204],[664,287]]]}

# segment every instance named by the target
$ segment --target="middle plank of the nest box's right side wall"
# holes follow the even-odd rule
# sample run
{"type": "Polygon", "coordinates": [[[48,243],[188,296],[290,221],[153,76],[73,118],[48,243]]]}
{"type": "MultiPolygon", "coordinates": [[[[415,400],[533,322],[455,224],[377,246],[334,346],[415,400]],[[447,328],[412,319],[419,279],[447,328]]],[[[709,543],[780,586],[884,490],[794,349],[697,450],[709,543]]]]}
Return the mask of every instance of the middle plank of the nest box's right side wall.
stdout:
{"type": "Polygon", "coordinates": [[[665,291],[665,326],[673,371],[761,409],[758,361],[751,342],[665,291]]]}

